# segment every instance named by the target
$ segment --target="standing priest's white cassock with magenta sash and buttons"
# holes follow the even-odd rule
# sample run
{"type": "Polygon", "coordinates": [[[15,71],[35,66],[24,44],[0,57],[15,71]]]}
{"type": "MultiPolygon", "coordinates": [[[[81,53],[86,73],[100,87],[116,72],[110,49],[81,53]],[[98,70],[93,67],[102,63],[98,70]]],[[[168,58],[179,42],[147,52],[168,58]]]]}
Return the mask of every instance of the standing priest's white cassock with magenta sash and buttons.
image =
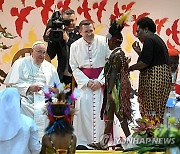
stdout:
{"type": "Polygon", "coordinates": [[[110,50],[104,36],[95,35],[91,44],[80,38],[71,45],[70,66],[80,89],[80,97],[75,103],[77,114],[73,121],[77,145],[86,146],[89,143],[99,142],[104,133],[105,123],[100,119],[103,87],[92,91],[87,84],[89,80],[98,80],[104,85],[103,67],[109,55],[110,50]]]}

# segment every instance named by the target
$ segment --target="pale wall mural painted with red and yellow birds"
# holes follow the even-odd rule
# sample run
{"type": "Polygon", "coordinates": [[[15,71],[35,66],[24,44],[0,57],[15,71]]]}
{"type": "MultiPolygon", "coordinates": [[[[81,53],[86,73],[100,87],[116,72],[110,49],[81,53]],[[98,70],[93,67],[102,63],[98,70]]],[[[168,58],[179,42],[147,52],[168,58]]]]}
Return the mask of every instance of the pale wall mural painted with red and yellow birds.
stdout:
{"type": "MultiPolygon", "coordinates": [[[[83,19],[95,23],[96,34],[106,35],[109,19],[130,11],[123,29],[123,50],[135,63],[137,55],[131,45],[136,41],[136,21],[151,17],[157,25],[157,34],[169,49],[180,51],[179,0],[0,0],[0,83],[3,82],[18,50],[31,47],[42,40],[48,19],[54,10],[72,8],[78,23],[83,19]]],[[[52,61],[56,66],[56,60],[52,61]]],[[[132,86],[137,87],[138,72],[131,73],[132,86]]],[[[0,89],[3,88],[1,84],[0,89]]]]}

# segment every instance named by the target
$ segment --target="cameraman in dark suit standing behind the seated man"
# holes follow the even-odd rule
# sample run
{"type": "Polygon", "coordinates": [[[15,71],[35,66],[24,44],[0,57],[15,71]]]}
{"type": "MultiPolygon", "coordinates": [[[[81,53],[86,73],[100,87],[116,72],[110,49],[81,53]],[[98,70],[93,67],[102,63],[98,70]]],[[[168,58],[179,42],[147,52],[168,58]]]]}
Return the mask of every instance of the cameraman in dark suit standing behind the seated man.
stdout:
{"type": "MultiPolygon", "coordinates": [[[[59,12],[58,12],[59,13],[59,12]]],[[[52,31],[52,18],[48,21],[48,25],[44,32],[44,40],[48,42],[47,53],[51,59],[53,59],[57,55],[58,60],[58,75],[60,81],[65,84],[69,84],[72,82],[72,71],[69,66],[69,52],[70,45],[79,39],[81,35],[79,34],[79,27],[76,26],[77,17],[75,15],[75,11],[72,9],[65,10],[62,15],[63,29],[62,37],[60,39],[54,40],[51,39],[51,31],[52,31]],[[66,24],[69,21],[68,24],[66,24]]]]}

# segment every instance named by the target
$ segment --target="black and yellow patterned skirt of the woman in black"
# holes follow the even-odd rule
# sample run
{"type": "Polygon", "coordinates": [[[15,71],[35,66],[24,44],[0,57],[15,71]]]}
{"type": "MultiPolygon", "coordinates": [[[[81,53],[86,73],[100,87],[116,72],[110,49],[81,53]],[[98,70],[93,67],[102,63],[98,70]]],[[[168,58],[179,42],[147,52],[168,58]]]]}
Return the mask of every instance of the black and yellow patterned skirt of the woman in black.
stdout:
{"type": "Polygon", "coordinates": [[[171,83],[171,71],[166,64],[140,72],[138,101],[141,116],[163,118],[171,83]]]}

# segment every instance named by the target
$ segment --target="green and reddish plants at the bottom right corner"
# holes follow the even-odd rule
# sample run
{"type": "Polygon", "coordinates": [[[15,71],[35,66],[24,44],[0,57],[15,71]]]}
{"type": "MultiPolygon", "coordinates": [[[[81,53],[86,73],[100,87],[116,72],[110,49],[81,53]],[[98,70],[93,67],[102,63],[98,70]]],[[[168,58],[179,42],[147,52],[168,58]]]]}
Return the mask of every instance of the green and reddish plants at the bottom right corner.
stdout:
{"type": "Polygon", "coordinates": [[[145,152],[158,152],[167,151],[172,147],[180,149],[180,121],[176,122],[175,117],[168,118],[169,123],[172,124],[171,128],[167,128],[165,125],[156,125],[152,121],[145,119],[138,119],[138,126],[134,128],[133,136],[140,135],[144,137],[148,142],[137,144],[137,147],[129,148],[124,150],[127,151],[138,151],[138,154],[145,152]],[[146,134],[147,133],[147,134],[146,134]],[[150,137],[150,138],[148,138],[150,137]]]}

